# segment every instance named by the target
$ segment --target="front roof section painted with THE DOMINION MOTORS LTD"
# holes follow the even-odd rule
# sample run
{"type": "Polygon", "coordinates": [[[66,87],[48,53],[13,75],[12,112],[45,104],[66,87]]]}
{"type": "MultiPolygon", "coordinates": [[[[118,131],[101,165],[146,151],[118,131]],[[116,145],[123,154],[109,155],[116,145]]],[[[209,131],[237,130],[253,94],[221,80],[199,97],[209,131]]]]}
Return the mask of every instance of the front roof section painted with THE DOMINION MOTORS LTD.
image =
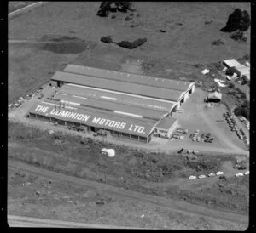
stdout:
{"type": "Polygon", "coordinates": [[[154,122],[114,116],[113,114],[100,111],[70,110],[67,108],[61,108],[60,111],[56,111],[54,105],[48,105],[42,102],[33,105],[29,112],[63,121],[79,122],[87,126],[105,128],[143,137],[147,137],[150,134],[155,124],[154,122]]]}

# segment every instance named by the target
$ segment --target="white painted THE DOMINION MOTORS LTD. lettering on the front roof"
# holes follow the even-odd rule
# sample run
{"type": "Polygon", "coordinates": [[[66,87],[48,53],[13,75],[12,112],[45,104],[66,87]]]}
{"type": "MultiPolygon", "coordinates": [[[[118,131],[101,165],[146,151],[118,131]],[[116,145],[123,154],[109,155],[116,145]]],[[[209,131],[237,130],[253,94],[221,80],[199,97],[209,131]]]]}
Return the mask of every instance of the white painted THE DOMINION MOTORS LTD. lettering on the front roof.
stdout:
{"type": "MultiPolygon", "coordinates": [[[[49,115],[65,117],[67,119],[79,120],[82,122],[90,122],[91,124],[99,125],[99,127],[102,126],[102,128],[104,128],[104,126],[107,126],[109,128],[126,129],[131,132],[145,134],[144,133],[145,128],[143,126],[138,126],[136,124],[127,124],[126,122],[118,122],[118,121],[113,121],[113,120],[109,120],[107,118],[101,118],[101,117],[90,117],[89,115],[84,115],[82,113],[77,113],[73,111],[64,111],[64,110],[57,111],[55,109],[42,106],[42,105],[38,105],[35,111],[43,112],[45,114],[49,113],[49,115]]],[[[88,124],[90,125],[90,123],[88,124]]]]}

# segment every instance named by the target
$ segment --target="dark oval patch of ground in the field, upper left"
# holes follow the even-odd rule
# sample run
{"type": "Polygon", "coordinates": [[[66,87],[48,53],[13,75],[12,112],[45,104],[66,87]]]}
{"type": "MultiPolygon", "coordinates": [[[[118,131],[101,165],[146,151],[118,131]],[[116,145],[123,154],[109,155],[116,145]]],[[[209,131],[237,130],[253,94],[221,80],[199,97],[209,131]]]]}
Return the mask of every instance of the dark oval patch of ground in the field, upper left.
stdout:
{"type": "Polygon", "coordinates": [[[39,49],[47,50],[55,54],[80,54],[88,48],[88,44],[77,37],[43,36],[40,41],[45,43],[38,44],[39,49]]]}

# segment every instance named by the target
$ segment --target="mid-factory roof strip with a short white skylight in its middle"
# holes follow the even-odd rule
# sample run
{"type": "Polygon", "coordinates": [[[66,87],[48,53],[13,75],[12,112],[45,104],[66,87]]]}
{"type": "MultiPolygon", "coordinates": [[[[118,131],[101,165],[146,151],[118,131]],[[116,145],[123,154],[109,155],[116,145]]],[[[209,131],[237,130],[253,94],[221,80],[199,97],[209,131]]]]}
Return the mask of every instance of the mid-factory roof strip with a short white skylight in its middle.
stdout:
{"type": "Polygon", "coordinates": [[[177,103],[175,102],[166,103],[165,101],[161,100],[145,99],[124,94],[108,93],[102,90],[92,90],[84,87],[74,87],[68,84],[65,84],[61,87],[61,92],[79,96],[81,99],[108,99],[108,101],[117,102],[119,104],[139,106],[163,112],[171,111],[174,105],[177,105],[177,103]]]}

